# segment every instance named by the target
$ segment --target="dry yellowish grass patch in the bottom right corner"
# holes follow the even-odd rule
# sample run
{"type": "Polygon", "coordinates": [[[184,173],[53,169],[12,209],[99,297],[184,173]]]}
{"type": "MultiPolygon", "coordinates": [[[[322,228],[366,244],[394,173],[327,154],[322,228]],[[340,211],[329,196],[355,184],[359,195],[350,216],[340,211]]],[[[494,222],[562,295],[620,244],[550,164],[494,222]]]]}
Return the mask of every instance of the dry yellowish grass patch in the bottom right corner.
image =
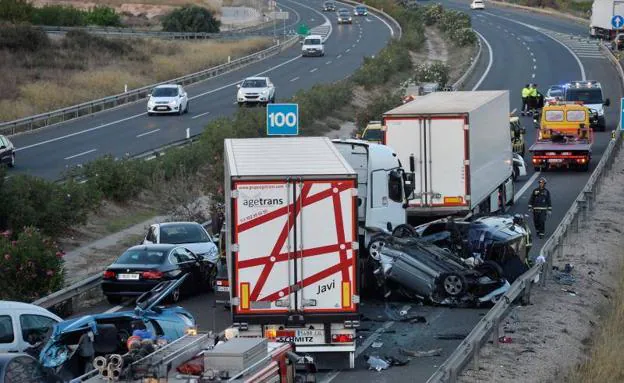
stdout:
{"type": "Polygon", "coordinates": [[[624,382],[624,266],[620,266],[619,284],[611,305],[605,310],[603,322],[593,336],[587,361],[578,366],[566,379],[571,383],[624,382]]]}

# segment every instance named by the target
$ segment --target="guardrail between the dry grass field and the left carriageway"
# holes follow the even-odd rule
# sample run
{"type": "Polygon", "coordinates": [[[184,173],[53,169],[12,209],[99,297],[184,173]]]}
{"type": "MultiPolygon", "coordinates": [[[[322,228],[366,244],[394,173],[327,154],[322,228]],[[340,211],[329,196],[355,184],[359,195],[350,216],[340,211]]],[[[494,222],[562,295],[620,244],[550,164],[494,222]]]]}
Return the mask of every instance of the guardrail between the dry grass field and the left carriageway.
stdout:
{"type": "Polygon", "coordinates": [[[253,53],[248,56],[240,57],[226,64],[221,64],[216,67],[208,68],[172,80],[163,81],[158,84],[152,84],[138,89],[129,90],[128,92],[101,98],[99,100],[89,101],[67,108],[58,109],[52,112],[42,113],[35,116],[29,116],[18,120],[5,122],[0,124],[0,134],[10,136],[21,132],[40,129],[49,125],[84,117],[89,114],[102,112],[104,110],[115,108],[120,105],[137,102],[146,98],[155,86],[168,83],[188,85],[204,81],[209,78],[219,76],[223,73],[231,72],[235,69],[245,67],[258,61],[262,61],[267,57],[273,56],[290,48],[291,46],[296,44],[297,41],[298,38],[296,36],[288,36],[285,40],[278,40],[277,44],[267,49],[253,53]]]}

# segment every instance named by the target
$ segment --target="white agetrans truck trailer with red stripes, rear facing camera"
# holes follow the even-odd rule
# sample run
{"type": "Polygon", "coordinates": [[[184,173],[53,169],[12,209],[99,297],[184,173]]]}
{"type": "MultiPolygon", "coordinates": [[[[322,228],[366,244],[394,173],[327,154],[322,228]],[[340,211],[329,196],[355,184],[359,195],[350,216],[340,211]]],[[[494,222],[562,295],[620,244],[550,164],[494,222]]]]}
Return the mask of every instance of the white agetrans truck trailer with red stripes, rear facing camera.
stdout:
{"type": "Polygon", "coordinates": [[[357,173],[325,137],[224,145],[232,327],[353,368],[357,173]]]}

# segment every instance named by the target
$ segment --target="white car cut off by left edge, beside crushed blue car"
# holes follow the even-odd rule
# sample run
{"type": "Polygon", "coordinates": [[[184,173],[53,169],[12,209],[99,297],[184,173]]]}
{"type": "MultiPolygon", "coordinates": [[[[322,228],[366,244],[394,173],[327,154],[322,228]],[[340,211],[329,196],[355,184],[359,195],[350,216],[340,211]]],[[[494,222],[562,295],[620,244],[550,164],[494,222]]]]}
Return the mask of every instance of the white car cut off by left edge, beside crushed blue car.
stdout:
{"type": "Polygon", "coordinates": [[[0,352],[24,352],[62,321],[37,305],[0,301],[0,352]]]}

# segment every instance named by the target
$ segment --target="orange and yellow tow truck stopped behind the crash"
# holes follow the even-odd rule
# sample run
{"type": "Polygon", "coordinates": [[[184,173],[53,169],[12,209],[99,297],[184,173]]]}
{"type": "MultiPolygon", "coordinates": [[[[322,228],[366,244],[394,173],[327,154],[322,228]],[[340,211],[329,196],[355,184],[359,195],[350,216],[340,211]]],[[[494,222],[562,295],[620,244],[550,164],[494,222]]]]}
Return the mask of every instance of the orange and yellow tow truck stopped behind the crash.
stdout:
{"type": "Polygon", "coordinates": [[[598,118],[582,102],[553,101],[544,106],[535,143],[529,148],[535,171],[568,168],[588,171],[591,161],[593,131],[598,118]]]}

